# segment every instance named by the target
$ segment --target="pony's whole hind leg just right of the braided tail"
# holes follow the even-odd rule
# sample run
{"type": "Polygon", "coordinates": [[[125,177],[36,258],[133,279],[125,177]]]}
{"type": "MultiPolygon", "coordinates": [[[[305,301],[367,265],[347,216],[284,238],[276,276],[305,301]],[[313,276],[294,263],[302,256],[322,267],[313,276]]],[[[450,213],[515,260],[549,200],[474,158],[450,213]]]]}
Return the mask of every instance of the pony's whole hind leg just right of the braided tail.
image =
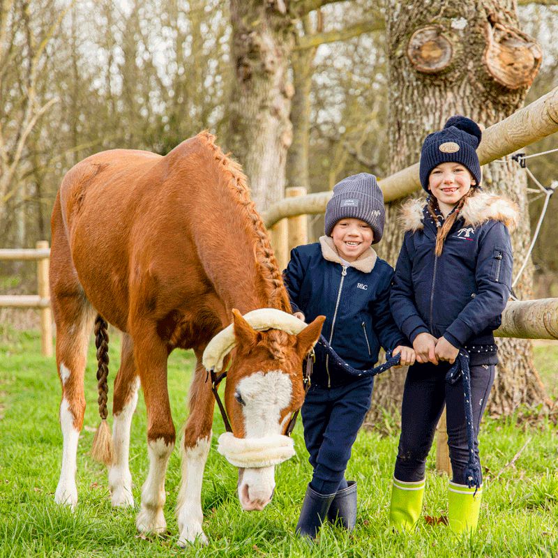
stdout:
{"type": "Polygon", "coordinates": [[[122,334],[120,368],[114,380],[112,413],[113,460],[109,467],[109,488],[113,506],[133,506],[132,475],[128,465],[130,428],[137,405],[140,377],[137,375],[132,338],[122,334]]]}

